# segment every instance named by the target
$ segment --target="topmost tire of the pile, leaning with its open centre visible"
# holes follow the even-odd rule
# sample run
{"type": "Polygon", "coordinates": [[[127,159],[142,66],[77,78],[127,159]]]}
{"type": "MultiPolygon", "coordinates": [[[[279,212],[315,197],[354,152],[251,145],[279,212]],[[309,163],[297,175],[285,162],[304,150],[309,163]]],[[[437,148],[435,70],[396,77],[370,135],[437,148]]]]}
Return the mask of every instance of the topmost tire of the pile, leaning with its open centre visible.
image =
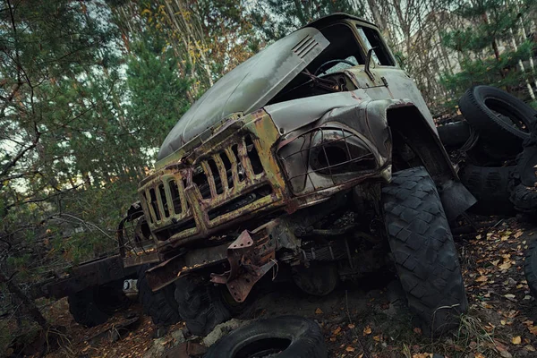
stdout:
{"type": "Polygon", "coordinates": [[[530,136],[535,111],[522,100],[490,86],[474,86],[459,100],[466,121],[481,138],[502,146],[508,152],[519,152],[522,142],[530,136]]]}

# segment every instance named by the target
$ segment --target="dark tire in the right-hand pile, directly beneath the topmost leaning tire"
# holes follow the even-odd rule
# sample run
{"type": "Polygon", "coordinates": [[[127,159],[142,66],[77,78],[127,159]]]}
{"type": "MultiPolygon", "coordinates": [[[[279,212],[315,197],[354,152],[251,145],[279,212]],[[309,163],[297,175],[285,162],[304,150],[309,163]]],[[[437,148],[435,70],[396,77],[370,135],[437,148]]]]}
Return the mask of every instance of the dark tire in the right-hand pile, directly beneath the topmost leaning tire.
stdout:
{"type": "Polygon", "coordinates": [[[477,202],[472,211],[482,215],[509,215],[515,212],[509,200],[510,181],[516,166],[466,165],[459,172],[461,182],[477,202]]]}

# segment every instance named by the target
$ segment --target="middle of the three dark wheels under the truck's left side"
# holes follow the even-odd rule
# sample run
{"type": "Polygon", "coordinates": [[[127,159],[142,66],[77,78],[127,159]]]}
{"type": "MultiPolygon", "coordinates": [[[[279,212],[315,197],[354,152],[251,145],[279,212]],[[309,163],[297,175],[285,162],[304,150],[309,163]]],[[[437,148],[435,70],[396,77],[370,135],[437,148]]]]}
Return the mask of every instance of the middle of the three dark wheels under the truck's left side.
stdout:
{"type": "Polygon", "coordinates": [[[143,312],[147,314],[156,325],[169,326],[181,320],[179,311],[177,311],[177,303],[174,299],[174,285],[168,285],[159,289],[156,292],[151,291],[146,271],[150,265],[141,266],[138,271],[138,296],[143,308],[143,312]]]}

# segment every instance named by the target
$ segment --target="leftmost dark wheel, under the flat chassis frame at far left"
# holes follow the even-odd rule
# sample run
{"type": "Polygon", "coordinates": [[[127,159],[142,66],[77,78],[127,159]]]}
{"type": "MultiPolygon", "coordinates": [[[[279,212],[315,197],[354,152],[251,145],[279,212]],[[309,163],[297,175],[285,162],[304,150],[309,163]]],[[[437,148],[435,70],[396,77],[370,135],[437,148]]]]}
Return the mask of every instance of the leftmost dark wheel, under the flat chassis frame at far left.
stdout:
{"type": "Polygon", "coordinates": [[[95,327],[105,323],[115,311],[129,304],[122,287],[123,282],[116,281],[71,294],[67,297],[67,302],[72,318],[86,327],[95,327]]]}

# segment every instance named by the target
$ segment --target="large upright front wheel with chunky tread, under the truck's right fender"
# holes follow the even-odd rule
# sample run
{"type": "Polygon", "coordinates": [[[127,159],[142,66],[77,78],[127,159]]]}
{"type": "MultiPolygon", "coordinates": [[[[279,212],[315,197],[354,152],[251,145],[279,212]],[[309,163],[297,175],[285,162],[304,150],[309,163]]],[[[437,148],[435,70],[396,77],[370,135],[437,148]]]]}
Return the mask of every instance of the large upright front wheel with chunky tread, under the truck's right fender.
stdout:
{"type": "Polygon", "coordinates": [[[431,336],[458,326],[465,284],[439,192],[422,167],[397,172],[382,189],[388,242],[410,310],[431,336]]]}

